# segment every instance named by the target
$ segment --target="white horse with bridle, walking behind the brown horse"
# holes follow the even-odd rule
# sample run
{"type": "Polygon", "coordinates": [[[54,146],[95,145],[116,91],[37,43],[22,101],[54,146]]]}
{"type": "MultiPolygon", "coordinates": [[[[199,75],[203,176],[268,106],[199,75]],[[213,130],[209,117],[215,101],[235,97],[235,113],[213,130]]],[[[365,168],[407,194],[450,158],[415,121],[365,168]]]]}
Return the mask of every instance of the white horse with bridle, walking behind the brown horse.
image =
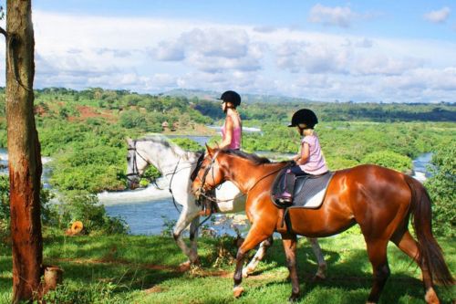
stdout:
{"type": "MultiPolygon", "coordinates": [[[[181,215],[173,229],[174,240],[181,247],[183,254],[189,258],[188,261],[181,264],[181,267],[187,268],[192,264],[198,264],[196,238],[200,225],[200,215],[203,215],[204,212],[202,205],[196,204],[195,197],[192,194],[191,174],[196,167],[200,154],[183,151],[179,146],[161,136],[135,141],[128,139],[127,142],[129,146],[127,180],[130,189],[138,187],[140,175],[144,173],[150,164],[161,172],[169,183],[169,189],[174,200],[182,206],[181,215]],[[190,225],[190,247],[182,240],[182,232],[188,225],[190,225]]],[[[232,214],[244,211],[245,196],[241,194],[233,183],[223,183],[216,190],[215,196],[217,198],[218,213],[232,214]]],[[[326,278],[326,261],[321,248],[316,238],[307,237],[307,240],[312,245],[318,262],[315,278],[324,279],[326,278]]],[[[272,245],[272,242],[271,237],[260,244],[252,261],[247,267],[244,267],[244,277],[254,272],[255,267],[263,259],[267,248],[272,245]]]]}

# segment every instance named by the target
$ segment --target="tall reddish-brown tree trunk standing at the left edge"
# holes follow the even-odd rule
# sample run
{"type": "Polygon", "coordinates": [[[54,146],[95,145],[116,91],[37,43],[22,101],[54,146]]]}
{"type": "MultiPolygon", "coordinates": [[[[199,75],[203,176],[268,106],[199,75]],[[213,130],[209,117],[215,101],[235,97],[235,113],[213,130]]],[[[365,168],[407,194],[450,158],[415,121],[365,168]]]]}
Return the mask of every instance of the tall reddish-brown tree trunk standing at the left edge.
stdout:
{"type": "Polygon", "coordinates": [[[41,153],[34,117],[34,31],[31,0],[6,2],[8,134],[13,303],[36,298],[42,274],[41,153]]]}

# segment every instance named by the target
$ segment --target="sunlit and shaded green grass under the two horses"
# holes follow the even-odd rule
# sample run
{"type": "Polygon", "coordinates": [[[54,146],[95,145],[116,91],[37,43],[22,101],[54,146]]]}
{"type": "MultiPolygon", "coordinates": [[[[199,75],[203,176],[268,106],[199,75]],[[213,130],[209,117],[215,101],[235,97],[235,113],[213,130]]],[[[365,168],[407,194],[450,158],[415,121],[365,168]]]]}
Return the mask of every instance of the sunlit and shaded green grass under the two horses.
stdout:
{"type": "MultiPolygon", "coordinates": [[[[454,241],[439,239],[452,273],[454,241]]],[[[328,263],[327,278],[313,282],[315,257],[306,240],[299,241],[299,303],[364,303],[372,270],[362,236],[328,237],[320,239],[320,245],[328,263]]],[[[10,252],[10,247],[0,245],[0,303],[11,299],[10,252]]],[[[202,267],[182,273],[177,267],[185,257],[171,237],[47,236],[44,263],[64,269],[64,284],[49,298],[55,303],[285,303],[291,293],[280,239],[275,239],[254,276],[244,278],[241,299],[232,295],[231,240],[202,238],[199,253],[202,267]],[[217,249],[222,245],[229,254],[221,262],[217,249]]],[[[420,270],[394,245],[389,246],[389,266],[392,275],[380,303],[424,303],[420,270]]],[[[456,299],[454,287],[437,287],[437,292],[443,303],[456,299]]]]}

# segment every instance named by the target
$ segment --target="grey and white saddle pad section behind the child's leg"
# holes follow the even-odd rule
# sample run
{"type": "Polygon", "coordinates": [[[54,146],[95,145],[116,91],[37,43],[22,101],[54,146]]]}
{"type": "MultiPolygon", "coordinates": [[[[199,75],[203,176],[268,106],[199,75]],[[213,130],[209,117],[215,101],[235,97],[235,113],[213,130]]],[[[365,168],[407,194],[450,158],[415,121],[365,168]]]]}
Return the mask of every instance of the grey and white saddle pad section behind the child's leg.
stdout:
{"type": "Polygon", "coordinates": [[[292,207],[318,208],[325,199],[327,185],[334,173],[298,176],[292,207]]]}

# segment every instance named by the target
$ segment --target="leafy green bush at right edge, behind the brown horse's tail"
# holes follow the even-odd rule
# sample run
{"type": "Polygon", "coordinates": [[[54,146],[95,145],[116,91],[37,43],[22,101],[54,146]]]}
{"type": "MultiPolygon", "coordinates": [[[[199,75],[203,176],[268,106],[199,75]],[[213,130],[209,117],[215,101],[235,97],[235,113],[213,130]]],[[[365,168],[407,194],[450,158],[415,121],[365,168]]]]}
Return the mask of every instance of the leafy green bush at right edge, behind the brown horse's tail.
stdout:
{"type": "Polygon", "coordinates": [[[434,232],[440,236],[456,236],[456,143],[448,142],[434,152],[430,168],[432,176],[426,187],[433,201],[434,232]]]}

